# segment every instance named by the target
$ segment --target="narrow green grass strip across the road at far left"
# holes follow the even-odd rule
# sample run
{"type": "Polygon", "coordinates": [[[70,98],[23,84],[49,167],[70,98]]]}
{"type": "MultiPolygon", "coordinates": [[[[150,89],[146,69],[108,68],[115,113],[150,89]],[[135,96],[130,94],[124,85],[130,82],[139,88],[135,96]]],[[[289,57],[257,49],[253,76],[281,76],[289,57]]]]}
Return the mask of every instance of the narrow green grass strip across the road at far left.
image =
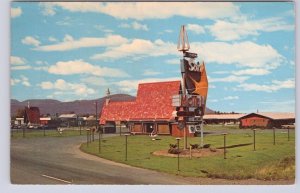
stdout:
{"type": "MultiPolygon", "coordinates": [[[[12,132],[12,131],[11,131],[12,132]]],[[[45,130],[45,136],[43,130],[35,130],[35,129],[26,129],[25,130],[25,138],[33,138],[33,137],[71,137],[71,136],[79,136],[79,130],[64,130],[62,134],[60,134],[57,130],[45,130]]],[[[81,135],[86,135],[86,130],[81,130],[81,135]]],[[[96,134],[95,134],[96,135],[96,134]]],[[[11,138],[18,139],[23,138],[23,131],[19,129],[18,131],[14,130],[11,133],[11,138]]]]}

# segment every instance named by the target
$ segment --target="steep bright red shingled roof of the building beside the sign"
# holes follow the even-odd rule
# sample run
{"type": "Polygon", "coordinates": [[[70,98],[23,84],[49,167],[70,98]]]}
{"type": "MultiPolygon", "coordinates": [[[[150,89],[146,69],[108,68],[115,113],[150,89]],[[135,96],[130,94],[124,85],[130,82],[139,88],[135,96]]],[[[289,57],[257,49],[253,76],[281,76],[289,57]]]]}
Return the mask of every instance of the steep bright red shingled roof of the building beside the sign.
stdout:
{"type": "Polygon", "coordinates": [[[100,124],[106,121],[170,120],[172,96],[179,94],[180,81],[142,83],[134,102],[109,102],[103,105],[100,124]]]}

